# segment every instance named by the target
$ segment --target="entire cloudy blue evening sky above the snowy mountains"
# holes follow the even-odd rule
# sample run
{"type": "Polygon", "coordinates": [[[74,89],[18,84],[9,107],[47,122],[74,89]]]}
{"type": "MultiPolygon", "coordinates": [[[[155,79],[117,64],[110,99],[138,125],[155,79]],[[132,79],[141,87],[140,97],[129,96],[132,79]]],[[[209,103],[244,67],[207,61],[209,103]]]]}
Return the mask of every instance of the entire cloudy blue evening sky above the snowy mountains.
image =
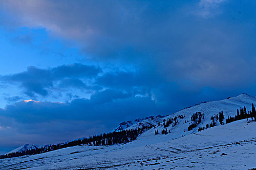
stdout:
{"type": "Polygon", "coordinates": [[[0,153],[256,96],[256,1],[1,0],[0,153]]]}

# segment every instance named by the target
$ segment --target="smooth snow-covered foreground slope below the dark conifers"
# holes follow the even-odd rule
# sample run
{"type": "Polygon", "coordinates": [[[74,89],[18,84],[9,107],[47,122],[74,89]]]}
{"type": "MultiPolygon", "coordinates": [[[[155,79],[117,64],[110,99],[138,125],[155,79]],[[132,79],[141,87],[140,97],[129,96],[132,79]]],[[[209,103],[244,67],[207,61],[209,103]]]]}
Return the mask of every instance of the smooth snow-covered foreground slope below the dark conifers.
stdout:
{"type": "Polygon", "coordinates": [[[76,146],[38,155],[2,159],[0,169],[256,168],[256,122],[247,123],[243,119],[172,138],[171,134],[152,138],[146,135],[122,145],[76,146]]]}

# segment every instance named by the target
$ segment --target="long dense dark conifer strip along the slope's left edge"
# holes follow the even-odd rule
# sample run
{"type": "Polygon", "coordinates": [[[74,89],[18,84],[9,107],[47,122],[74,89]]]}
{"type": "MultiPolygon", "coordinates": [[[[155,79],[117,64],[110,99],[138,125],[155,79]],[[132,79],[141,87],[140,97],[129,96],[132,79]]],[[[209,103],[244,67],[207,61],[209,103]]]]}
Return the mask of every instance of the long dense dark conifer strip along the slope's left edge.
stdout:
{"type": "Polygon", "coordinates": [[[67,148],[71,146],[77,146],[82,144],[87,144],[89,146],[109,146],[109,145],[115,145],[119,143],[127,143],[133,140],[136,140],[136,138],[142,134],[143,132],[147,131],[148,129],[151,129],[153,126],[146,126],[146,127],[138,127],[136,129],[129,129],[129,130],[123,130],[118,132],[110,132],[107,134],[101,134],[101,135],[95,135],[90,137],[84,137],[77,140],[73,140],[66,143],[59,143],[56,145],[49,145],[44,146],[42,148],[37,149],[30,149],[23,152],[15,152],[15,153],[8,153],[0,155],[0,159],[3,158],[10,158],[10,157],[18,157],[23,155],[32,155],[32,154],[39,154],[39,153],[46,153],[50,151],[55,151],[62,148],[67,148]]]}

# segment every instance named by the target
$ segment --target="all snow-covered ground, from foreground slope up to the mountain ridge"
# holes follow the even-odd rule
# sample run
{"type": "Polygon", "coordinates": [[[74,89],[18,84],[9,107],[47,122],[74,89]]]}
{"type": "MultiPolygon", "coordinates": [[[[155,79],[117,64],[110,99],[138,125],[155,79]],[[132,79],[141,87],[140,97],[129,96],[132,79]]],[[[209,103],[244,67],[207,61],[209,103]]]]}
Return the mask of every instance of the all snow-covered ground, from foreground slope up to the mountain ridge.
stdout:
{"type": "Polygon", "coordinates": [[[126,121],[120,123],[113,131],[145,126],[155,127],[126,144],[69,147],[28,156],[22,164],[19,163],[24,162],[24,158],[4,159],[0,162],[0,166],[2,164],[12,168],[29,168],[31,167],[29,161],[45,159],[37,161],[38,168],[34,169],[134,169],[134,167],[159,169],[164,166],[168,169],[171,167],[209,169],[218,166],[221,169],[230,169],[233,165],[234,169],[243,169],[245,168],[243,166],[248,169],[253,167],[248,160],[256,158],[253,154],[256,150],[256,131],[252,130],[256,129],[256,122],[247,123],[247,120],[243,119],[220,125],[219,121],[212,117],[221,111],[225,119],[227,116],[234,117],[236,109],[240,110],[240,107],[245,106],[249,111],[252,109],[252,103],[256,104],[255,97],[241,94],[221,101],[202,102],[165,117],[152,116],[126,121]],[[188,127],[192,124],[191,116],[196,112],[201,112],[204,119],[188,131],[188,127]],[[167,126],[169,120],[172,122],[167,126]],[[217,126],[197,132],[199,127],[204,127],[213,121],[217,126]],[[157,130],[159,134],[155,135],[157,130]],[[168,133],[161,135],[162,130],[167,130],[168,133]],[[229,146],[232,149],[229,149],[229,146]],[[239,160],[239,165],[236,159],[239,160]],[[46,164],[46,161],[49,164],[46,164]],[[17,163],[17,166],[13,163],[17,163]]]}

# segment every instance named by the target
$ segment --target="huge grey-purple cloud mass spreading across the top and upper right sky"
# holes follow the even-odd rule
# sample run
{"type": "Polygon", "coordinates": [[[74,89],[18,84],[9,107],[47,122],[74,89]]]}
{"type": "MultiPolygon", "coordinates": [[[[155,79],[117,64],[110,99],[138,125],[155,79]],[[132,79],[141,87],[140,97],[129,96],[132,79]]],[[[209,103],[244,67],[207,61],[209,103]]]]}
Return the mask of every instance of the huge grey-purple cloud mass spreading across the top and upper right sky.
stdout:
{"type": "MultiPolygon", "coordinates": [[[[235,83],[241,87],[244,85],[237,82],[251,81],[252,72],[256,71],[249,62],[255,62],[255,24],[248,24],[254,23],[256,17],[251,13],[255,2],[1,3],[4,16],[19,18],[19,22],[10,19],[9,26],[41,26],[53,36],[76,41],[90,59],[149,70],[148,76],[155,73],[167,81],[189,81],[201,89],[235,83]]],[[[2,18],[4,26],[9,22],[2,18]]]]}

